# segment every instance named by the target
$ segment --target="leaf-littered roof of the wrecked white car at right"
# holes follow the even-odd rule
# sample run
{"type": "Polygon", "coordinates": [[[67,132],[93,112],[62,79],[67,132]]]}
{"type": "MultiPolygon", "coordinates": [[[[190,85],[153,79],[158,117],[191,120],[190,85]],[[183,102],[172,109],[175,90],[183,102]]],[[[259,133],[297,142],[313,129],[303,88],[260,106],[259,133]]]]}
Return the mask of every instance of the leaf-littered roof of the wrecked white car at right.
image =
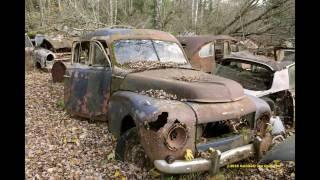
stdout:
{"type": "Polygon", "coordinates": [[[241,61],[247,61],[257,64],[262,64],[265,66],[268,66],[272,71],[279,71],[281,69],[284,69],[288,65],[292,64],[292,62],[276,62],[273,59],[270,59],[266,56],[258,56],[254,55],[248,51],[240,51],[232,53],[225,58],[223,58],[222,62],[226,59],[239,59],[241,61]]]}

